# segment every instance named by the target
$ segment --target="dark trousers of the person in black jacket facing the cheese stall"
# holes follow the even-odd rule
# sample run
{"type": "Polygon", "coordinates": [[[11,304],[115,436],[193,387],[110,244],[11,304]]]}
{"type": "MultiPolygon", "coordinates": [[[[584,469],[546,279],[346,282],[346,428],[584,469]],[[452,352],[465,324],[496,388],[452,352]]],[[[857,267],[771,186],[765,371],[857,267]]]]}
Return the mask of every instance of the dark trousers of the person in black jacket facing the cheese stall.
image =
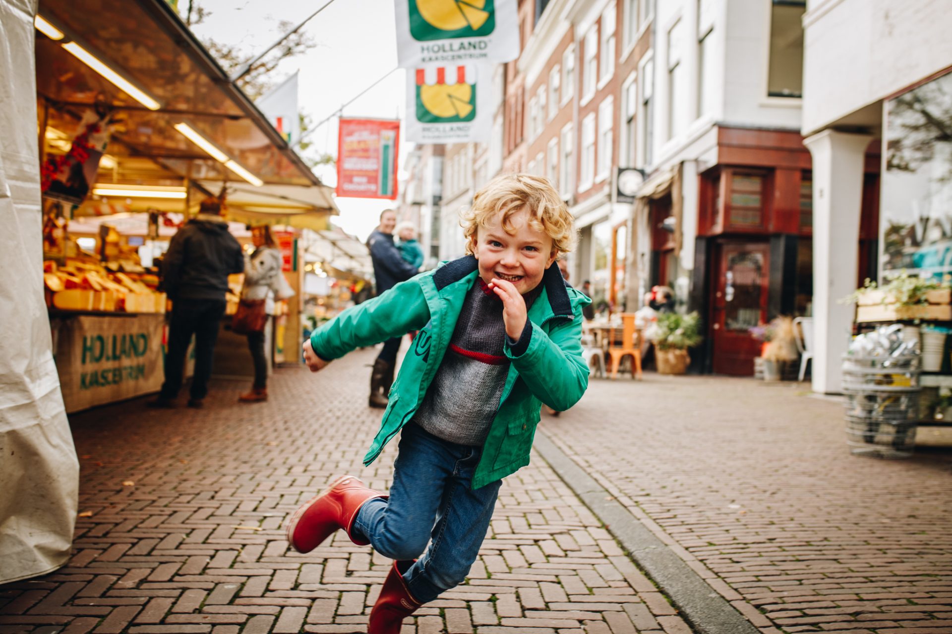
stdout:
{"type": "Polygon", "coordinates": [[[166,382],[159,398],[174,400],[182,388],[188,343],[195,336],[195,372],[191,377],[190,397],[202,400],[208,394],[211,356],[218,339],[218,328],[225,315],[224,299],[176,299],[169,322],[169,354],[166,355],[166,382]]]}

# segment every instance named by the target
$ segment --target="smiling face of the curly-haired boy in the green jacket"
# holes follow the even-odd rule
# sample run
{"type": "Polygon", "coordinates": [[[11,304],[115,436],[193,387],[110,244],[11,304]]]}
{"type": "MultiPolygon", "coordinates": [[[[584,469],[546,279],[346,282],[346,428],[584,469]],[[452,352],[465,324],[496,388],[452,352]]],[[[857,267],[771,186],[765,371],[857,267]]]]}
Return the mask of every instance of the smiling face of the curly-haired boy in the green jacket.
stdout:
{"type": "Polygon", "coordinates": [[[497,215],[491,223],[479,225],[472,237],[473,256],[479,260],[479,275],[486,283],[493,278],[512,282],[525,295],[542,281],[545,269],[558,252],[544,231],[528,223],[523,209],[509,218],[513,232],[506,232],[497,215]]]}

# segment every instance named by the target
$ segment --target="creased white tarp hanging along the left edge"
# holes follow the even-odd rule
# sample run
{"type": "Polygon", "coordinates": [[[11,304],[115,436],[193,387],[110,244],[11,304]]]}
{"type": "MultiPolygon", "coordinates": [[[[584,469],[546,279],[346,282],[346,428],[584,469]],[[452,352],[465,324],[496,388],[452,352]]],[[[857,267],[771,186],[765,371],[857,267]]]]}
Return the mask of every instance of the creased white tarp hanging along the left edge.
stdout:
{"type": "Polygon", "coordinates": [[[43,299],[36,2],[0,2],[0,584],[66,564],[79,489],[43,299]]]}

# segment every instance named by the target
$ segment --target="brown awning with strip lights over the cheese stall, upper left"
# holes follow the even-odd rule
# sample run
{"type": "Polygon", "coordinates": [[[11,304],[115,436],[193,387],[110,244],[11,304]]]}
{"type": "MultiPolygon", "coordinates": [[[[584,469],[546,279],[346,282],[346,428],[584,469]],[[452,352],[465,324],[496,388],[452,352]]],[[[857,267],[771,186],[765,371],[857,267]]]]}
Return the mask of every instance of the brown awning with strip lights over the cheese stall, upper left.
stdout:
{"type": "Polygon", "coordinates": [[[38,14],[65,33],[59,40],[36,36],[40,116],[54,130],[48,139],[75,136],[97,104],[113,108],[119,120],[107,149],[115,161],[100,163],[100,182],[236,180],[225,161],[180,131],[187,125],[268,185],[321,184],[165,0],[41,0],[38,14]],[[70,53],[70,42],[140,88],[157,109],[70,53]]]}

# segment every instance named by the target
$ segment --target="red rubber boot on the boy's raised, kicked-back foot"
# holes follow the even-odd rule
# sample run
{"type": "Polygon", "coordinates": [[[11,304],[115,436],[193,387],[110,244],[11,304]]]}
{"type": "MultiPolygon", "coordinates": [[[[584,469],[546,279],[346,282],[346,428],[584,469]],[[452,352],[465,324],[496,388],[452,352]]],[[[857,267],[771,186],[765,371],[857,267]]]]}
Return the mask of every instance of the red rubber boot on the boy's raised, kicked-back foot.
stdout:
{"type": "Polygon", "coordinates": [[[321,545],[340,528],[347,530],[347,537],[358,546],[369,542],[354,539],[350,525],[357,511],[374,498],[387,495],[367,489],[364,483],[352,475],[337,478],[327,490],[297,509],[288,522],[288,544],[298,552],[310,552],[321,545]]]}

